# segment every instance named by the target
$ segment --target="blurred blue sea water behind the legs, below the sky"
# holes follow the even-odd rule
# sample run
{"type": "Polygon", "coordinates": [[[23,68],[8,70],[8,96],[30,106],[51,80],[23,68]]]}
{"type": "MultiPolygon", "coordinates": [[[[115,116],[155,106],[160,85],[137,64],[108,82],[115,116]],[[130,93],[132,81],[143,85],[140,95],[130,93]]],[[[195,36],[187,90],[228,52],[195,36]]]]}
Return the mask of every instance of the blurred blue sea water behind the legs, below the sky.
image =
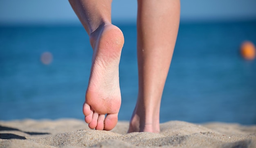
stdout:
{"type": "MultiPolygon", "coordinates": [[[[136,24],[116,24],[125,36],[120,62],[119,120],[130,120],[138,90],[136,24]]],[[[256,124],[256,21],[181,23],[162,96],[160,122],[256,124]]],[[[92,49],[78,25],[0,26],[0,120],[83,119],[92,49]],[[43,52],[53,61],[44,65],[43,52]]]]}

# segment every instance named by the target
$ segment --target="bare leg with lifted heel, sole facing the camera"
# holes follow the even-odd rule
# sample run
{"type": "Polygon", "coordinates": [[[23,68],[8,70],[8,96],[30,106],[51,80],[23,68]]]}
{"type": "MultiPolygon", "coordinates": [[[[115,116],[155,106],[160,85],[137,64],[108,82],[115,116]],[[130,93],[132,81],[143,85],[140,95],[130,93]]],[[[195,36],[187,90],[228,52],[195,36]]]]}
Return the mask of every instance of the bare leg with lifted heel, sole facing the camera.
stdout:
{"type": "Polygon", "coordinates": [[[89,127],[98,130],[111,130],[115,127],[121,106],[119,61],[124,36],[117,26],[111,24],[111,2],[70,0],[90,36],[93,49],[83,113],[89,127]]]}

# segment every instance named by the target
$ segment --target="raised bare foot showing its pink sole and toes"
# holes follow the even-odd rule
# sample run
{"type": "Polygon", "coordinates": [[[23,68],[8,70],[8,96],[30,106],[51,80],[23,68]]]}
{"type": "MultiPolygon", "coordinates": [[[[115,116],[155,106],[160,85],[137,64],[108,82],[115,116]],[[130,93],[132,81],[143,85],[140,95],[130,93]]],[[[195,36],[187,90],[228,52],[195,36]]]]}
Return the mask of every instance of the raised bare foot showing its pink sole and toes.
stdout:
{"type": "Polygon", "coordinates": [[[121,106],[119,61],[124,35],[117,26],[103,24],[90,34],[90,42],[93,57],[83,114],[90,128],[111,130],[121,106]]]}

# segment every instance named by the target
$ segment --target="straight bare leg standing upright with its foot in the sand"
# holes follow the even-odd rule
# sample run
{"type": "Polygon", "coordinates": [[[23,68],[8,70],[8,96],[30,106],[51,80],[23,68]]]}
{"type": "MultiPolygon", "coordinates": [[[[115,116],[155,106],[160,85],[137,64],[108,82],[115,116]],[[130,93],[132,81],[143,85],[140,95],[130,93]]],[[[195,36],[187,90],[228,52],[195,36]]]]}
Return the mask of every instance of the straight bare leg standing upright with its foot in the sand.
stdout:
{"type": "Polygon", "coordinates": [[[159,111],[180,22],[180,0],[138,0],[139,94],[130,132],[159,133],[159,111]]]}

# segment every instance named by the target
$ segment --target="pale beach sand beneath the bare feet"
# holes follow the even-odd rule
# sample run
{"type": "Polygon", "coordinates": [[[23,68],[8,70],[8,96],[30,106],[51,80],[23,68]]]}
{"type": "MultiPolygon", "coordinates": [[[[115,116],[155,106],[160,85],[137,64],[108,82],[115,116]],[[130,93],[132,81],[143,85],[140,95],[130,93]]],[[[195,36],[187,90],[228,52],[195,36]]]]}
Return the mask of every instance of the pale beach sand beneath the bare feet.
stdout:
{"type": "Polygon", "coordinates": [[[127,134],[128,126],[118,122],[112,131],[97,131],[76,119],[0,121],[0,148],[256,148],[256,125],[170,121],[159,134],[127,134]]]}

